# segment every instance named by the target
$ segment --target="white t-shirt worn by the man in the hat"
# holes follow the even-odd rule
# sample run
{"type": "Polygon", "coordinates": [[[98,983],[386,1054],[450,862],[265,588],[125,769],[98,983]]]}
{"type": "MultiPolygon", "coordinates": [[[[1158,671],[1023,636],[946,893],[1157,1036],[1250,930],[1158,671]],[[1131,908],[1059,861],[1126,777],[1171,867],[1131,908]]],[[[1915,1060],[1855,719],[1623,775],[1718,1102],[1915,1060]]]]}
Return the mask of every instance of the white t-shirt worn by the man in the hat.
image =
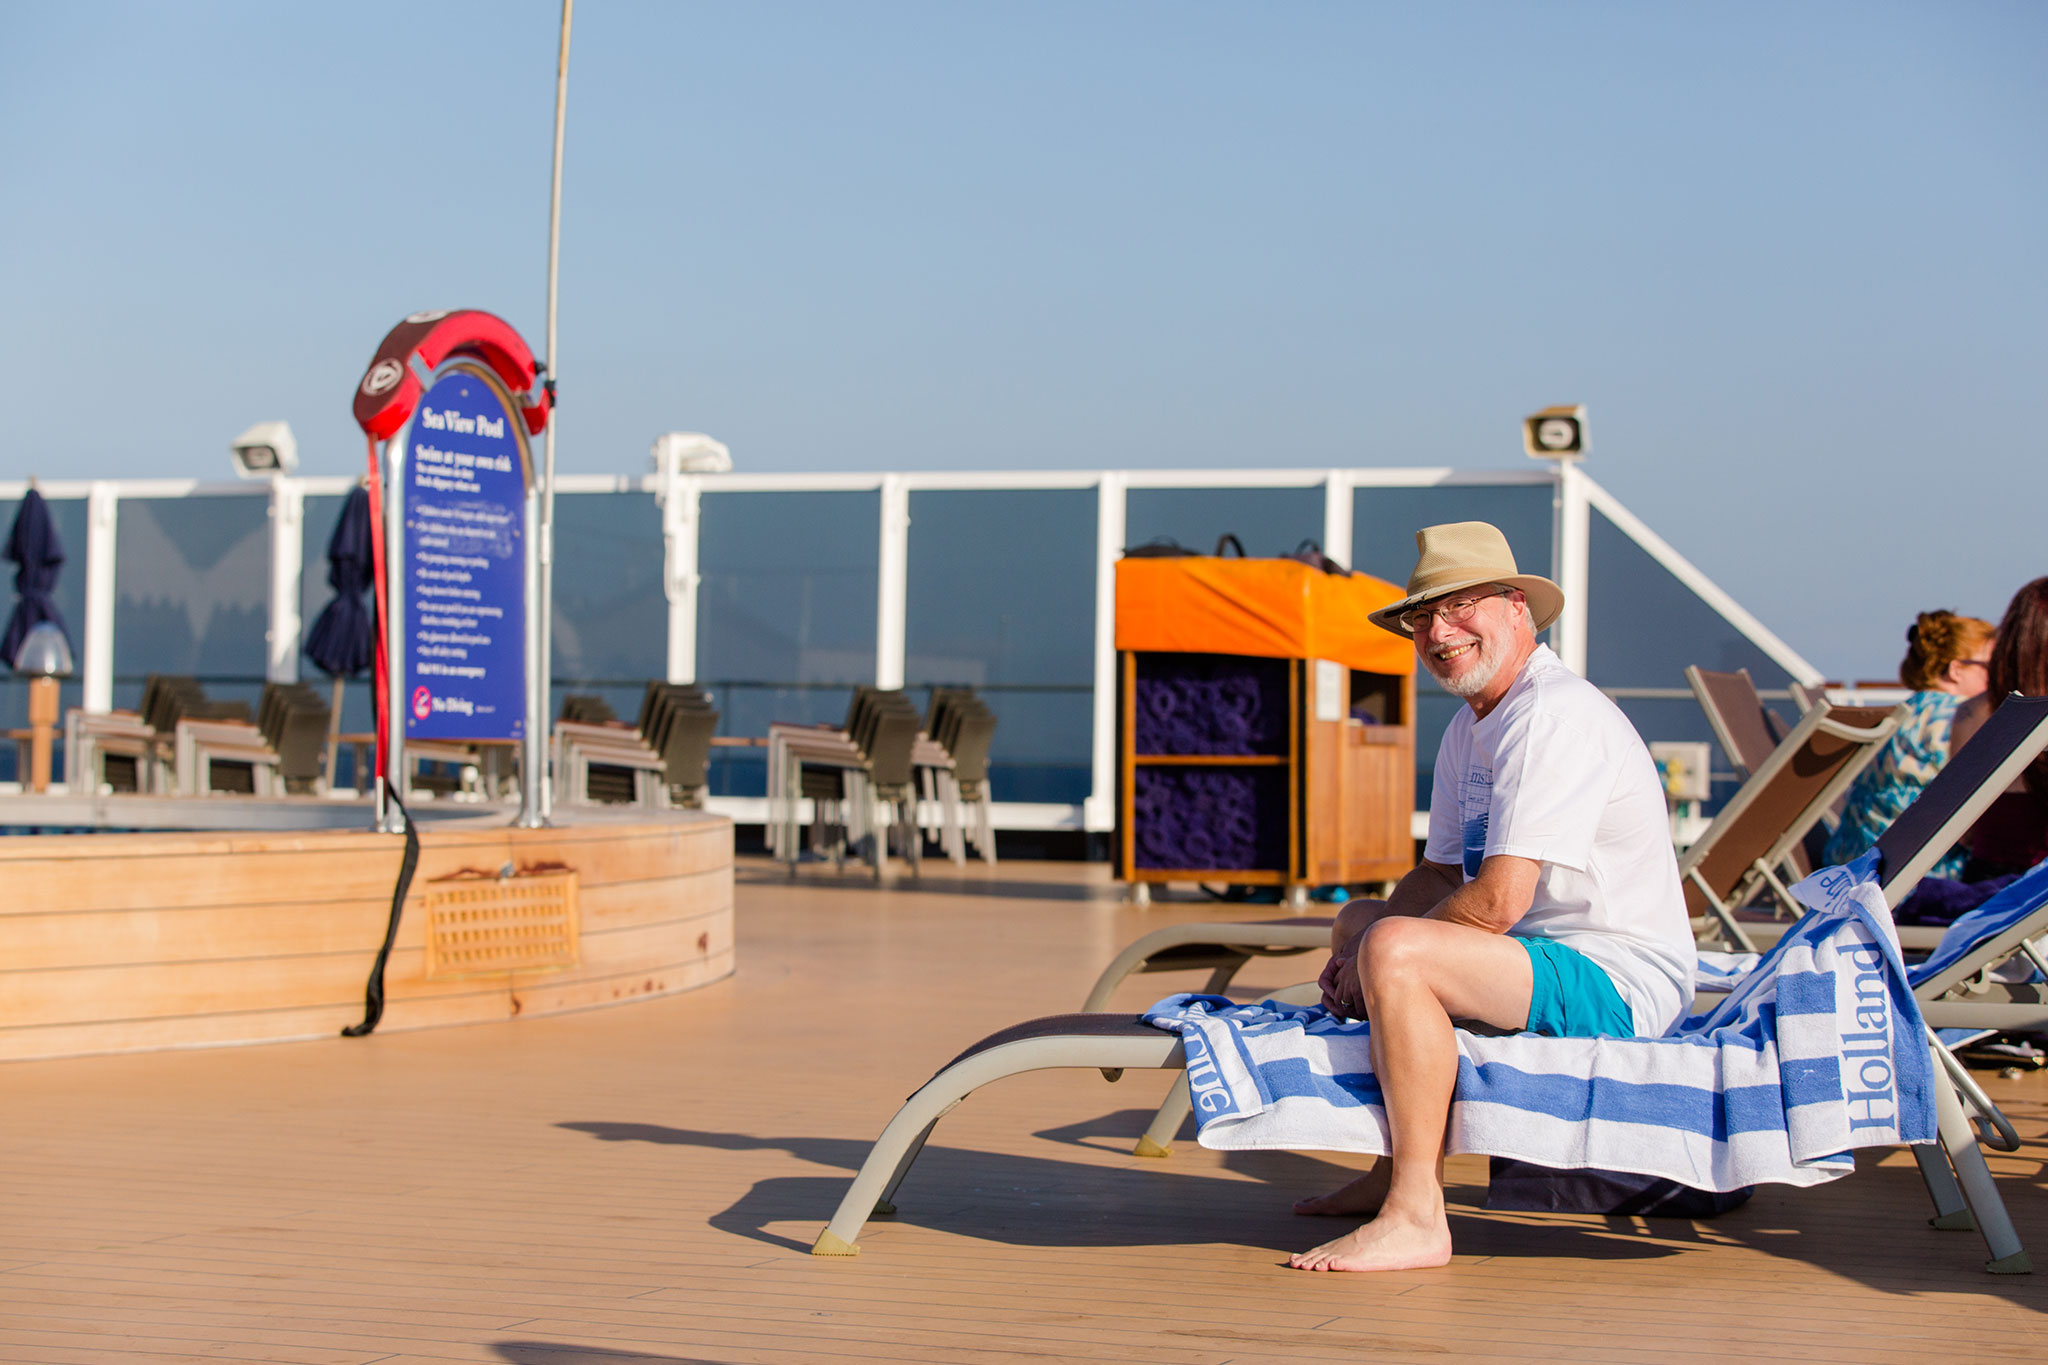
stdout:
{"type": "Polygon", "coordinates": [[[1657,763],[1599,688],[1538,645],[1485,720],[1460,706],[1436,751],[1423,855],[1479,876],[1542,864],[1513,933],[1591,958],[1655,1038],[1692,1005],[1692,925],[1657,763]]]}

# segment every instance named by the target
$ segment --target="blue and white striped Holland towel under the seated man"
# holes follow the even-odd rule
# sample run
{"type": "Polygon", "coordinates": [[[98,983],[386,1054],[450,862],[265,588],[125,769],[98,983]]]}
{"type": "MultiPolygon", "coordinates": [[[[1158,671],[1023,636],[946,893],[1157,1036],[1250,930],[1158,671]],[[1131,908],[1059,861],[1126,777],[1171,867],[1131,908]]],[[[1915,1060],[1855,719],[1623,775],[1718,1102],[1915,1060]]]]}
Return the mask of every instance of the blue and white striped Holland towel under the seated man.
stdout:
{"type": "MultiPolygon", "coordinates": [[[[1450,1150],[1694,1189],[1819,1185],[1853,1148],[1933,1142],[1933,1060],[1874,857],[1815,872],[1810,907],[1720,1005],[1665,1038],[1456,1031],[1450,1150]]],[[[1202,1146],[1386,1152],[1370,1023],[1174,995],[1202,1146]]]]}

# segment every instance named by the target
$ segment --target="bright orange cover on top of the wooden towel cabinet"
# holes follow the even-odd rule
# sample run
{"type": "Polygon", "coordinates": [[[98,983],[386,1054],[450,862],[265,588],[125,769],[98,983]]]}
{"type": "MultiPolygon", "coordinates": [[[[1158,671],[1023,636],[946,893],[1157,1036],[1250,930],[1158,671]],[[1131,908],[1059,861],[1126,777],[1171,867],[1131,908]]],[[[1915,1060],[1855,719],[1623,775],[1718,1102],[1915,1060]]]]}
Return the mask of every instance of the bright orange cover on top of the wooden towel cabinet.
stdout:
{"type": "Polygon", "coordinates": [[[1368,673],[1411,673],[1413,645],[1366,620],[1403,596],[1376,577],[1292,559],[1120,559],[1116,649],[1335,659],[1368,673]]]}

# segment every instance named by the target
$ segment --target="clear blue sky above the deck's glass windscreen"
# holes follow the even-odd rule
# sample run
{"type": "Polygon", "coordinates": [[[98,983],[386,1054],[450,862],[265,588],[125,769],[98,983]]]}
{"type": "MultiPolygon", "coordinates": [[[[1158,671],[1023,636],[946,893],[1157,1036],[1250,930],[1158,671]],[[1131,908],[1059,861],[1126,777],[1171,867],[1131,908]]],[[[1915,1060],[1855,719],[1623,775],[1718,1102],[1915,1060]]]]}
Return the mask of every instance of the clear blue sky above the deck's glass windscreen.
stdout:
{"type": "MultiPolygon", "coordinates": [[[[0,477],[539,344],[547,0],[0,14],[0,477]]],[[[2048,6],[578,10],[561,463],[1587,469],[1819,667],[2048,573],[2048,6]]]]}

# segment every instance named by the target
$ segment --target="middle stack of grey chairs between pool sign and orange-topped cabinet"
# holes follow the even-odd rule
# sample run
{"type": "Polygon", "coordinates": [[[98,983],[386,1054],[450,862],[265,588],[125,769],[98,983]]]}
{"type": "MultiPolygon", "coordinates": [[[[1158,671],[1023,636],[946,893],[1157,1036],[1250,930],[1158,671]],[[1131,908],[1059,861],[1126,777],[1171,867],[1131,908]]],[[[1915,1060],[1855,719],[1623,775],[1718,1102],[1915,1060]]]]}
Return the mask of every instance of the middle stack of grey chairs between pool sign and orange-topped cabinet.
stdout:
{"type": "MultiPolygon", "coordinates": [[[[809,724],[768,726],[768,825],[776,857],[797,872],[801,804],[811,802],[809,851],[846,862],[852,849],[881,878],[895,849],[918,872],[915,765],[922,718],[901,690],[856,688],[846,708],[846,729],[809,724]],[[877,821],[877,804],[885,819],[877,821]]],[[[936,745],[934,745],[936,749],[936,745]]],[[[926,763],[946,763],[928,751],[926,763]]]]}

